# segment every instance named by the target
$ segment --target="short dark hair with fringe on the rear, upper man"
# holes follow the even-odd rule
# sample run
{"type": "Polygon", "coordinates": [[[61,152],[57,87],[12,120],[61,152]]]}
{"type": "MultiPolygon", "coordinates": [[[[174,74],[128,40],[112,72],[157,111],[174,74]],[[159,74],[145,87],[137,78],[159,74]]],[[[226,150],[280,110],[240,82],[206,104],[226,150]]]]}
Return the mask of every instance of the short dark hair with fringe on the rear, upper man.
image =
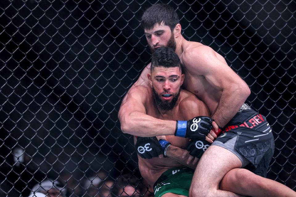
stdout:
{"type": "Polygon", "coordinates": [[[158,3],[145,10],[141,19],[141,26],[146,30],[150,30],[162,21],[173,31],[179,23],[179,16],[171,6],[158,3]]]}

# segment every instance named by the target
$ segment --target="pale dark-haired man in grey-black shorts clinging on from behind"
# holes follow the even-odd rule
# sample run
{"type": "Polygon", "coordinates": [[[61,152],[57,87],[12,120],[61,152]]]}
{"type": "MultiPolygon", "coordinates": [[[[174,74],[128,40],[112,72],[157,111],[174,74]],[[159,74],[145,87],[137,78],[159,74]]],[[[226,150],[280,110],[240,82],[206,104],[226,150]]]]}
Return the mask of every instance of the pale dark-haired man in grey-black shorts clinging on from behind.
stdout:
{"type": "MultiPolygon", "coordinates": [[[[183,87],[194,93],[209,107],[210,115],[220,129],[226,128],[199,161],[192,179],[191,196],[229,196],[230,192],[219,190],[219,184],[222,178],[225,182],[231,182],[237,178],[227,176],[226,173],[232,169],[242,174],[245,173],[245,180],[248,183],[250,177],[253,176],[249,176],[250,171],[239,168],[248,167],[256,174],[266,176],[273,154],[273,136],[265,117],[244,104],[250,94],[247,84],[232,71],[224,58],[210,47],[198,42],[189,42],[183,38],[179,18],[170,6],[156,4],[148,8],[142,16],[142,26],[152,52],[160,46],[175,49],[186,74],[183,87]]],[[[132,97],[134,88],[139,85],[149,85],[146,79],[149,72],[150,64],[143,70],[140,78],[123,100],[119,112],[122,131],[142,137],[176,135],[194,138],[198,134],[199,137],[206,136],[206,139],[214,140],[216,134],[219,133],[215,125],[216,134],[213,131],[209,132],[210,129],[206,132],[200,130],[202,127],[193,128],[194,131],[192,131],[189,127],[193,125],[194,119],[188,122],[159,120],[148,115],[142,116],[142,112],[138,109],[145,108],[137,108],[137,103],[134,103],[130,109],[124,107],[126,98],[132,97]]],[[[143,93],[141,96],[146,97],[147,95],[143,93]]],[[[172,95],[165,96],[169,98],[172,95]]],[[[209,120],[202,118],[201,121],[209,120]]],[[[251,187],[245,190],[239,189],[240,191],[234,192],[247,195],[250,191],[253,192],[252,196],[269,195],[268,193],[258,194],[263,191],[261,183],[251,184],[251,187]]],[[[266,179],[262,187],[266,184],[278,184],[278,187],[269,188],[268,191],[272,195],[283,196],[282,191],[286,191],[286,195],[295,196],[293,190],[280,183],[266,179]]],[[[223,190],[230,190],[228,186],[229,184],[220,184],[223,190]]]]}

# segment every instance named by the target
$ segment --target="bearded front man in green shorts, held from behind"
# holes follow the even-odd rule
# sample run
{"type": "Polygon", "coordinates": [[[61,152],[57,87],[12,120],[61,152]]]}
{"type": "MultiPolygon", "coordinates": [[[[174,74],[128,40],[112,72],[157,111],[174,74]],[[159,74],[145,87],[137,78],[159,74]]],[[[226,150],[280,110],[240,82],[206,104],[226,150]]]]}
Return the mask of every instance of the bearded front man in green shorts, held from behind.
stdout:
{"type": "MultiPolygon", "coordinates": [[[[181,89],[184,74],[182,74],[179,57],[171,48],[161,47],[157,49],[152,56],[151,65],[151,74],[147,76],[150,87],[137,86],[133,88],[131,94],[127,95],[126,102],[122,107],[137,110],[141,113],[139,116],[143,118],[143,121],[145,121],[146,115],[162,120],[187,120],[197,115],[209,115],[208,108],[202,101],[189,91],[181,89]],[[148,96],[143,97],[143,95],[148,96]],[[137,108],[135,109],[134,106],[137,106],[137,108]]],[[[147,127],[149,127],[149,124],[147,124],[147,127]]],[[[158,130],[161,130],[161,128],[158,128],[158,130]]],[[[141,133],[141,131],[137,132],[141,133]]],[[[156,136],[153,130],[148,135],[156,136]]],[[[162,148],[156,137],[134,137],[134,142],[138,143],[136,150],[138,151],[141,175],[150,185],[154,185],[161,176],[163,177],[163,173],[168,173],[168,176],[175,175],[168,179],[162,178],[163,181],[166,181],[164,183],[166,185],[165,191],[157,187],[155,196],[188,196],[188,189],[194,172],[192,169],[195,169],[197,161],[195,159],[192,163],[187,164],[186,159],[182,158],[186,150],[181,148],[187,146],[189,139],[174,135],[163,136],[163,139],[166,141],[162,141],[162,148]],[[137,140],[142,141],[139,143],[137,140]],[[158,155],[163,155],[163,157],[158,157],[158,155]],[[175,184],[174,179],[180,177],[184,178],[182,180],[183,185],[175,184]],[[184,189],[185,185],[188,187],[187,190],[184,189]]]]}

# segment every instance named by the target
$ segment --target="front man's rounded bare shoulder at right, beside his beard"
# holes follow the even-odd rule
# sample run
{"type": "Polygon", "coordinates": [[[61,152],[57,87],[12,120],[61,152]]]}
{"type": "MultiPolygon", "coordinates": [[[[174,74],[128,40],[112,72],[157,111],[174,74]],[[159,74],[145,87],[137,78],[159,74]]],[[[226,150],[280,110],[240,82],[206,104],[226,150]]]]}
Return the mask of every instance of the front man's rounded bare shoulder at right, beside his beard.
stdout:
{"type": "Polygon", "coordinates": [[[195,116],[209,116],[210,112],[206,104],[199,100],[194,94],[187,90],[182,90],[182,100],[179,103],[179,110],[185,119],[195,116]]]}

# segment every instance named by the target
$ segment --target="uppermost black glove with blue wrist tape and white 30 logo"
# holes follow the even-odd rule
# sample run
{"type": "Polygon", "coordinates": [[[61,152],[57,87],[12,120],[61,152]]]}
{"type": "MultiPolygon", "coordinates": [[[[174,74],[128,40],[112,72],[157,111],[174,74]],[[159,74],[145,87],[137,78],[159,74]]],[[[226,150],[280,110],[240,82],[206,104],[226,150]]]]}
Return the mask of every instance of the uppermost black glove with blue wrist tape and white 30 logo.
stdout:
{"type": "Polygon", "coordinates": [[[214,120],[208,116],[197,116],[188,121],[177,120],[175,136],[183,138],[206,139],[212,129],[214,120]]]}

